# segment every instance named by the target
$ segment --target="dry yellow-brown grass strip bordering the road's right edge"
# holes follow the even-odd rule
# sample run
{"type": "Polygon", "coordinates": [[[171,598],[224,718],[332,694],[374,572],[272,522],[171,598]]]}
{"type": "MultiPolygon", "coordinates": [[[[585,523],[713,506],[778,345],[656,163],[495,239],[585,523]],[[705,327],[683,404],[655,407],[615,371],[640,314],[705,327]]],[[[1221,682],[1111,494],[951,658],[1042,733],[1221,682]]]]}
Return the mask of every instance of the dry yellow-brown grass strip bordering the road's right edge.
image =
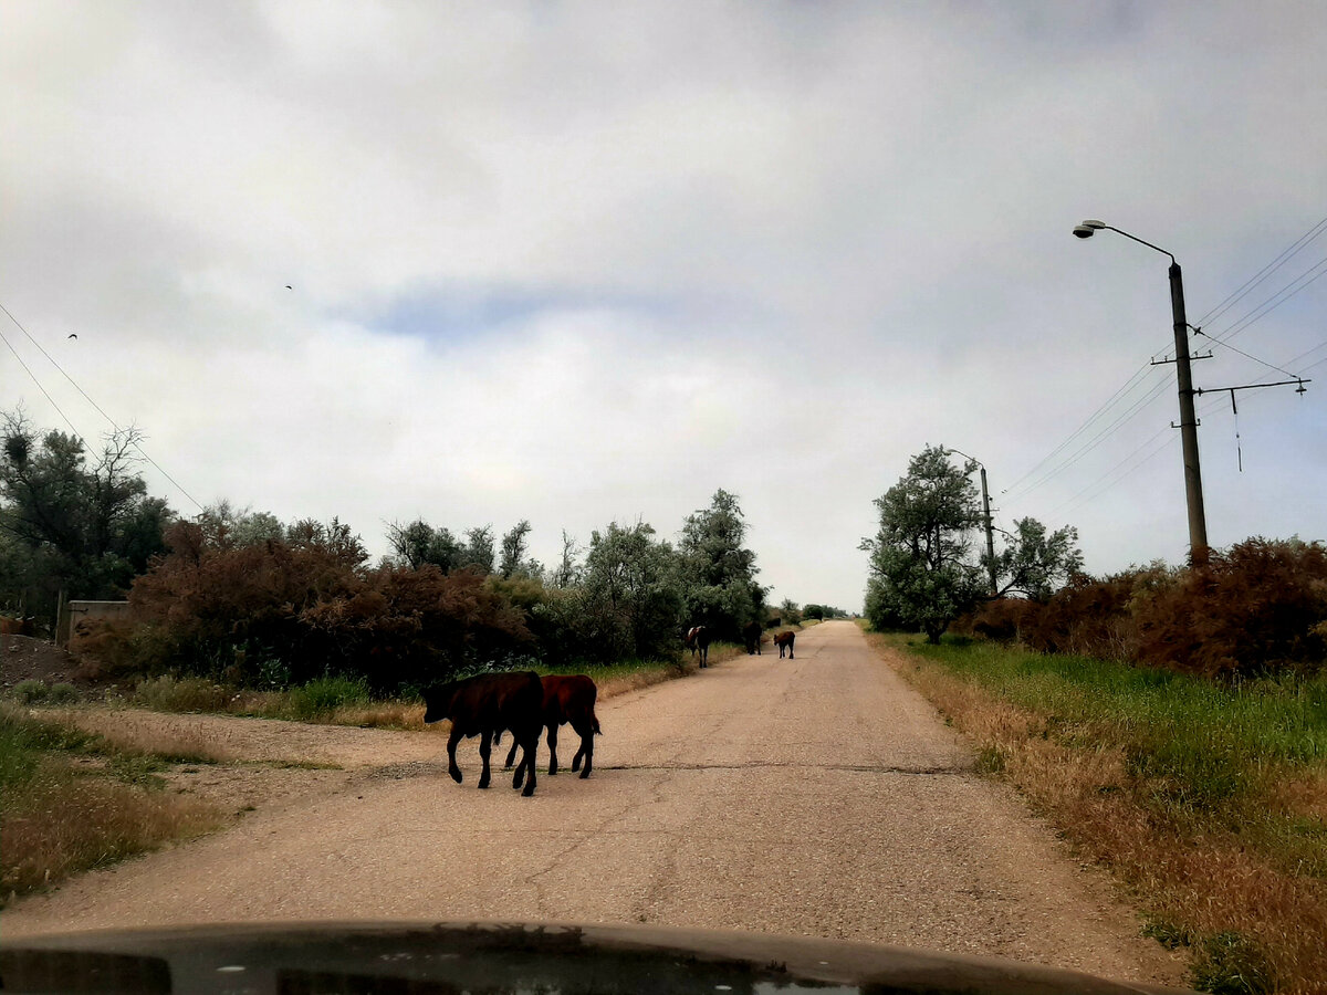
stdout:
{"type": "MultiPolygon", "coordinates": [[[[1108,866],[1154,921],[1190,937],[1242,934],[1266,957],[1275,991],[1327,992],[1327,882],[1286,873],[1237,833],[1161,824],[1137,796],[1124,750],[1107,739],[1104,727],[1076,730],[1085,735],[1074,740],[1084,746],[1066,746],[1063,735],[1044,735],[1047,716],[929,661],[902,657],[882,637],[868,638],[978,744],[987,772],[1014,784],[1083,856],[1108,866]]],[[[1319,817],[1327,811],[1327,775],[1273,791],[1289,811],[1319,817]]]]}

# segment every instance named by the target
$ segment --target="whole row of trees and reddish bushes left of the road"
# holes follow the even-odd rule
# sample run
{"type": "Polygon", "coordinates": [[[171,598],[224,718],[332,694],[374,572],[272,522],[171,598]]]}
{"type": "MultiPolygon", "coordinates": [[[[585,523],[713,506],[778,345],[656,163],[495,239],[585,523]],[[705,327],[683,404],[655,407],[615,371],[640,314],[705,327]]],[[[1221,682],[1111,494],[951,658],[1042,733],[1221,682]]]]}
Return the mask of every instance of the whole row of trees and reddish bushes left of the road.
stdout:
{"type": "Polygon", "coordinates": [[[768,618],[725,490],[675,541],[613,521],[584,547],[564,532],[560,560],[544,565],[529,556],[528,520],[499,536],[419,519],[390,524],[393,552],[374,564],[336,519],[283,523],[226,501],[176,515],[135,472],[137,440],[117,431],[89,454],[21,413],[3,425],[0,610],[50,620],[61,594],[127,597],[131,621],[90,645],[107,674],[276,685],[336,673],[391,691],[533,659],[674,659],[687,625],[736,642],[768,618]]]}

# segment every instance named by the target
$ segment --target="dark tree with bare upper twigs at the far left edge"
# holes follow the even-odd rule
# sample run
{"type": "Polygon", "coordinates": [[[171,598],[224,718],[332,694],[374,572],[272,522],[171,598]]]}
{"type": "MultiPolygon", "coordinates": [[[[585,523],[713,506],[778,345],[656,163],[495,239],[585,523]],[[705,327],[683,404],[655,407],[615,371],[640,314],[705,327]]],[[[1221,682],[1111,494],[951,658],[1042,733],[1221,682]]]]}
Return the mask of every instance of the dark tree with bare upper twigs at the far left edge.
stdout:
{"type": "Polygon", "coordinates": [[[106,436],[89,464],[81,439],[38,436],[21,411],[0,425],[0,580],[8,601],[53,616],[61,589],[73,598],[117,598],[165,552],[166,501],[135,472],[137,430],[106,436]]]}

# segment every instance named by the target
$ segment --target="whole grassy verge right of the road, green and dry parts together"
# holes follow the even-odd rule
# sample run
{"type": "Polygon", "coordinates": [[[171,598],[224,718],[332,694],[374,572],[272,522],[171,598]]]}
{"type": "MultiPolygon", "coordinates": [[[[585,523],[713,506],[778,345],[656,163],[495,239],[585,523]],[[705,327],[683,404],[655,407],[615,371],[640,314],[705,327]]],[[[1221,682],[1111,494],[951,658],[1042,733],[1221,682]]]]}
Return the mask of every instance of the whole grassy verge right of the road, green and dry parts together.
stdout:
{"type": "Polygon", "coordinates": [[[1223,689],[989,643],[902,649],[900,669],[1137,896],[1214,992],[1327,991],[1327,679],[1223,689]]]}

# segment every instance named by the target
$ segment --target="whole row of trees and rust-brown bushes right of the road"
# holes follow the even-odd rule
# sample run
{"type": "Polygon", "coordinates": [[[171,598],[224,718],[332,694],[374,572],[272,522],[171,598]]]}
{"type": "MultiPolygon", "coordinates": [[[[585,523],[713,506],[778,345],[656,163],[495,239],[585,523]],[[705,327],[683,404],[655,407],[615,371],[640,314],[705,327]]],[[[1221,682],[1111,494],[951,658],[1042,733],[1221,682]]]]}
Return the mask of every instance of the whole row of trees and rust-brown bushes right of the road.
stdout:
{"type": "Polygon", "coordinates": [[[971,474],[942,446],[876,500],[867,616],[876,629],[963,634],[1218,681],[1327,667],[1327,548],[1250,537],[1198,563],[1083,570],[1078,532],[1014,523],[994,557],[971,474]],[[994,576],[995,584],[991,585],[994,576]]]}

